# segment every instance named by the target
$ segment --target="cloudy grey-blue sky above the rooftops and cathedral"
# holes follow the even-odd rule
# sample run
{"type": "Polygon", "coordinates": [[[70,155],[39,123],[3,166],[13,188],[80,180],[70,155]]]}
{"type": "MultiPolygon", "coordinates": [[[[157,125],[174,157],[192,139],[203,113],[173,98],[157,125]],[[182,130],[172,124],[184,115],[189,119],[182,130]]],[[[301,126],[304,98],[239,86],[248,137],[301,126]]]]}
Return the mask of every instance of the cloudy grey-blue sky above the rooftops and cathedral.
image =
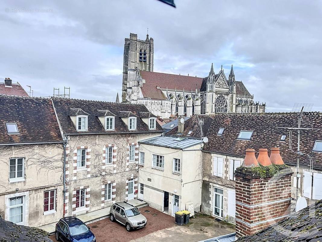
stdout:
{"type": "MultiPolygon", "coordinates": [[[[154,71],[208,76],[234,66],[267,111],[322,111],[322,1],[1,1],[0,81],[34,96],[115,101],[124,38],[154,38],[154,71]],[[31,12],[34,13],[31,13],[31,12]]],[[[121,95],[120,95],[121,96],[121,95]]]]}

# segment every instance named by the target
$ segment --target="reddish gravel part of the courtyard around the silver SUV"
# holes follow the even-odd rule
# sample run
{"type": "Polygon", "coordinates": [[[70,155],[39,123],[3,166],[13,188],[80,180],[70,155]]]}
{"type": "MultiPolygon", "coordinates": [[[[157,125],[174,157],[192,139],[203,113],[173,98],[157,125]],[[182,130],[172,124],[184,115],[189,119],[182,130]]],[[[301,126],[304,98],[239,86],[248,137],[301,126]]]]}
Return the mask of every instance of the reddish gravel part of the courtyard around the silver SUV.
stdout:
{"type": "MultiPolygon", "coordinates": [[[[127,232],[125,226],[117,222],[111,222],[109,218],[89,224],[90,230],[96,236],[96,241],[128,242],[140,237],[144,237],[155,231],[166,229],[175,225],[174,217],[157,211],[152,207],[143,207],[139,210],[147,218],[147,226],[131,232],[127,232]],[[145,213],[144,210],[150,210],[151,212],[145,213]]],[[[57,242],[54,235],[50,238],[54,242],[57,242]]]]}

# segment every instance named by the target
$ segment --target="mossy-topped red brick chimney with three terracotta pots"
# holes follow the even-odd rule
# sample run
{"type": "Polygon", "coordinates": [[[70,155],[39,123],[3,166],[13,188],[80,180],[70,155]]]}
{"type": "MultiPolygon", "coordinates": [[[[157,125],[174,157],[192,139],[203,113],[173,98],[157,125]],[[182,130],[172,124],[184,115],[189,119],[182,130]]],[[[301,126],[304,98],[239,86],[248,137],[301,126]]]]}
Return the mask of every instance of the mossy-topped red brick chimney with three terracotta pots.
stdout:
{"type": "MultiPolygon", "coordinates": [[[[272,148],[272,150],[275,156],[279,155],[277,154],[279,149],[272,148]]],[[[246,156],[249,156],[251,149],[247,151],[246,156]]],[[[255,154],[252,155],[255,161],[255,154]]],[[[237,168],[235,172],[237,238],[254,234],[289,216],[292,174],[292,170],[284,162],[268,166],[245,165],[243,162],[242,166],[237,168]]]]}

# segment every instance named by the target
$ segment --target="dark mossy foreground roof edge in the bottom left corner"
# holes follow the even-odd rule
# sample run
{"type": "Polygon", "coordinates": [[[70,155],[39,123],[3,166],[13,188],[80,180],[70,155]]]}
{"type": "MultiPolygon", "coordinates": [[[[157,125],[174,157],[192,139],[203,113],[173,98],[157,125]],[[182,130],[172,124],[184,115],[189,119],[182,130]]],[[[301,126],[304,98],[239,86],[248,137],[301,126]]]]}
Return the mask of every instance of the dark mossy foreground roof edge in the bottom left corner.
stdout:
{"type": "Polygon", "coordinates": [[[48,236],[42,229],[16,225],[0,218],[1,242],[52,242],[48,236]]]}

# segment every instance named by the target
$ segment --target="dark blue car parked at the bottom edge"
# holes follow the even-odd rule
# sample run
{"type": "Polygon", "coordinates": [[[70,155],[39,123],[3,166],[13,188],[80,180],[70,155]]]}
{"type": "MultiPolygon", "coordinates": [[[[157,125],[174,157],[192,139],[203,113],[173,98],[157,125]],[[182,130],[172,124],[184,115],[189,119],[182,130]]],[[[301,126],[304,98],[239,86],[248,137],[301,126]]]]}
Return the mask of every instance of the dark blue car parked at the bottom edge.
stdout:
{"type": "Polygon", "coordinates": [[[62,242],[96,242],[94,234],[77,217],[61,218],[56,224],[56,240],[62,242]]]}

